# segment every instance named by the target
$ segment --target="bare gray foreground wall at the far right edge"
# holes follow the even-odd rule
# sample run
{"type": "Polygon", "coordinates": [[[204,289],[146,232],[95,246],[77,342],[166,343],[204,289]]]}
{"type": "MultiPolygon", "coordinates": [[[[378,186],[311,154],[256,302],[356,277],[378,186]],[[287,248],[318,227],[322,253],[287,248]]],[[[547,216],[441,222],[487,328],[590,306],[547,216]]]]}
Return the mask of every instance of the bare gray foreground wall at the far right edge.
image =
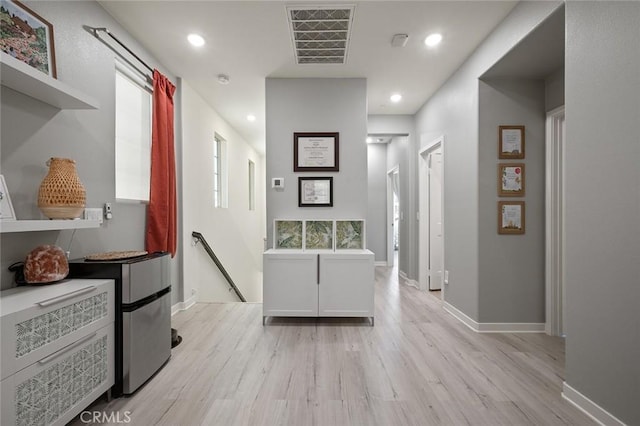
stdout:
{"type": "Polygon", "coordinates": [[[638,425],[640,3],[566,20],[566,381],[638,425]]]}

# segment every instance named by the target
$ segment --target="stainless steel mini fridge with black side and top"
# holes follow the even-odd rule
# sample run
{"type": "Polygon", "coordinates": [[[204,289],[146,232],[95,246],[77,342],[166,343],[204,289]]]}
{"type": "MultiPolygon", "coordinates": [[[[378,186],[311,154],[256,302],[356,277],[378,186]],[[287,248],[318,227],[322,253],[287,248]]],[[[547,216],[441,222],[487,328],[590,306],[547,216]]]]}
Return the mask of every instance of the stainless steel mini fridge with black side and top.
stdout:
{"type": "Polygon", "coordinates": [[[116,282],[116,366],[114,396],[132,394],[171,356],[169,256],[69,263],[70,277],[116,282]]]}

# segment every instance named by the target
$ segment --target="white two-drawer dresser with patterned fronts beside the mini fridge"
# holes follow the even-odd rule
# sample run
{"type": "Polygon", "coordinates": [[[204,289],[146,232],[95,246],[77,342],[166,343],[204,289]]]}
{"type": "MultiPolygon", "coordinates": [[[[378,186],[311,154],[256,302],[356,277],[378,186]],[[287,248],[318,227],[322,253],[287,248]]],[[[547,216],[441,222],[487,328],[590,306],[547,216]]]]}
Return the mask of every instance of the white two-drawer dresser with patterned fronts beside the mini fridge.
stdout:
{"type": "Polygon", "coordinates": [[[114,282],[0,293],[2,425],[64,425],[114,383],[114,282]]]}

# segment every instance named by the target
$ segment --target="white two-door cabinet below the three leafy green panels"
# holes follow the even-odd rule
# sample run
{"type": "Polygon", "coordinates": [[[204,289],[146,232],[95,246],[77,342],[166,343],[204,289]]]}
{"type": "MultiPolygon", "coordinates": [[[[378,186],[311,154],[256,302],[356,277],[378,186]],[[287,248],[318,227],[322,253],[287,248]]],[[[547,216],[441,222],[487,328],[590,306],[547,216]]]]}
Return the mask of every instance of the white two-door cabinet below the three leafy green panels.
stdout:
{"type": "Polygon", "coordinates": [[[369,250],[264,253],[263,322],[270,316],[374,317],[369,250]]]}

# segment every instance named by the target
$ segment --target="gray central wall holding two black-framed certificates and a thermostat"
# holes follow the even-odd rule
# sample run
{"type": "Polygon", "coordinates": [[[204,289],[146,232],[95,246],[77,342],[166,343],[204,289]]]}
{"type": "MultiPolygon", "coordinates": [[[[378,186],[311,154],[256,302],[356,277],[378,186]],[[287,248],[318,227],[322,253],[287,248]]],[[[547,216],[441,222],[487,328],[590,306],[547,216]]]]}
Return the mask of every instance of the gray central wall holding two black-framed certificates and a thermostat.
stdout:
{"type": "Polygon", "coordinates": [[[267,239],[274,219],[367,217],[367,81],[363,78],[266,80],[267,239]],[[294,132],[339,132],[339,172],[293,172],[294,132]],[[298,177],[333,176],[333,207],[298,207],[298,177]],[[283,191],[271,179],[285,180],[283,191]]]}

